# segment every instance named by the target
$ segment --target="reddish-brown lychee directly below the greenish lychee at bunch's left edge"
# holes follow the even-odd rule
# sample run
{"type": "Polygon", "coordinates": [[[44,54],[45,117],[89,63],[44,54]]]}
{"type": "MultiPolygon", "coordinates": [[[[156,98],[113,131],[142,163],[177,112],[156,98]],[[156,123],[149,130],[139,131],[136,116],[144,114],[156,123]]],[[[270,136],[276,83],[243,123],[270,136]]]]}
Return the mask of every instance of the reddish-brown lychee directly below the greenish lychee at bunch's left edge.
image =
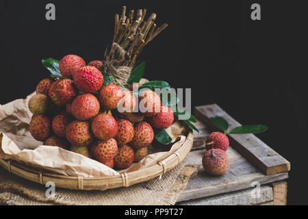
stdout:
{"type": "Polygon", "coordinates": [[[47,140],[51,136],[51,121],[47,116],[32,116],[29,124],[31,136],[40,142],[47,140]]]}

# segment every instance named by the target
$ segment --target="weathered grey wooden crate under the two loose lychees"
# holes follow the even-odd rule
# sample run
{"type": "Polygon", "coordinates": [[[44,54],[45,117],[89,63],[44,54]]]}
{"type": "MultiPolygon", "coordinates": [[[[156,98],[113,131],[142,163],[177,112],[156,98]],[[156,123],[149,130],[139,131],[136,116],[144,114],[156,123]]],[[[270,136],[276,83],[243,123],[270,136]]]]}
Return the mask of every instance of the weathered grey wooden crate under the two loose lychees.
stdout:
{"type": "Polygon", "coordinates": [[[230,135],[227,153],[230,168],[220,177],[205,173],[201,157],[205,153],[205,139],[217,128],[209,118],[225,118],[230,129],[240,123],[231,118],[218,105],[196,107],[198,118],[194,132],[194,146],[184,159],[186,164],[200,165],[198,175],[190,179],[178,199],[177,205],[286,205],[287,183],[290,162],[270,149],[252,134],[230,135]]]}

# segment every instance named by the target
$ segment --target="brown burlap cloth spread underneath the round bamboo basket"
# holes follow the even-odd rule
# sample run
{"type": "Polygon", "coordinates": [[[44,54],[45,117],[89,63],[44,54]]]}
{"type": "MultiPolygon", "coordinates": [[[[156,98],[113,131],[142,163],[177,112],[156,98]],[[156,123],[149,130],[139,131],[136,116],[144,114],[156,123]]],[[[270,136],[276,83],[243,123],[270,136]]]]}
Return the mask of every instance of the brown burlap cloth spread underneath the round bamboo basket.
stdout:
{"type": "Polygon", "coordinates": [[[72,191],[55,188],[55,197],[46,198],[48,188],[12,175],[0,167],[0,205],[175,205],[197,168],[177,167],[144,183],[105,191],[72,191]]]}

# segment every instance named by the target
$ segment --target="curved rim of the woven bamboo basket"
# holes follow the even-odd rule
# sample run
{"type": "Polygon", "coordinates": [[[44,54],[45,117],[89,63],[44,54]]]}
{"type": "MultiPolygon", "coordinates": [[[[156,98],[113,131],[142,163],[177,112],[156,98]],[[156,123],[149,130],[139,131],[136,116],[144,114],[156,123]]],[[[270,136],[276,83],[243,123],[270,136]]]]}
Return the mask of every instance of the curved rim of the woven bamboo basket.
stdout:
{"type": "MultiPolygon", "coordinates": [[[[6,160],[0,158],[0,166],[7,169],[14,175],[24,179],[34,181],[45,185],[47,182],[52,181],[56,187],[66,188],[70,190],[108,190],[112,188],[128,187],[130,185],[149,181],[155,177],[163,175],[168,170],[175,168],[183,159],[188,155],[192,149],[193,135],[192,131],[186,136],[185,142],[170,156],[162,160],[158,164],[150,166],[142,170],[123,173],[119,176],[112,177],[68,177],[49,172],[43,172],[18,163],[14,160],[6,160]]],[[[2,136],[0,136],[1,140],[2,136]]],[[[1,141],[0,141],[1,147],[1,141]]]]}

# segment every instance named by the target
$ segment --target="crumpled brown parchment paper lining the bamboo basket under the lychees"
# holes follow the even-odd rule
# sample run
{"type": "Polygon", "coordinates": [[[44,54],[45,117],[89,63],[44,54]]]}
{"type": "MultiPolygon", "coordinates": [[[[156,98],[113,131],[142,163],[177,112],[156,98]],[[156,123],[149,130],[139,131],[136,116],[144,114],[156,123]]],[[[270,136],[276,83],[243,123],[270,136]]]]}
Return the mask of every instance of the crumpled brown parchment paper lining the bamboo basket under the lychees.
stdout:
{"type": "MultiPolygon", "coordinates": [[[[3,159],[14,159],[35,168],[56,172],[66,176],[83,177],[109,177],[120,175],[119,172],[90,159],[83,155],[60,149],[56,146],[46,146],[32,138],[29,133],[31,112],[27,105],[35,93],[27,96],[26,99],[17,99],[5,105],[0,105],[0,133],[3,133],[0,153],[3,159]]],[[[165,159],[183,144],[185,141],[185,125],[176,121],[166,129],[176,142],[172,147],[149,146],[149,155],[144,157],[137,164],[133,164],[127,170],[120,172],[131,172],[147,168],[165,159]]]]}

